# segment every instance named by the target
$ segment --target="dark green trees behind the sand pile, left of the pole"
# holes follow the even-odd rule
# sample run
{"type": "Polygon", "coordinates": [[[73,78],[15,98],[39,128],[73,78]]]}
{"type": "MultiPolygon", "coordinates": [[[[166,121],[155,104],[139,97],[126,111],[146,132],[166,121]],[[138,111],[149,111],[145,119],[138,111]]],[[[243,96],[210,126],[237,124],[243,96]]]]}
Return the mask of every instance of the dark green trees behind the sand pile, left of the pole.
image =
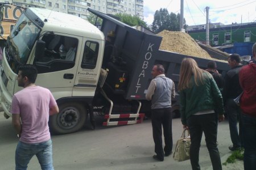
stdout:
{"type": "MultiPolygon", "coordinates": [[[[183,20],[184,28],[186,21],[183,20]]],[[[152,31],[159,33],[164,29],[168,31],[179,31],[180,30],[180,14],[177,15],[173,12],[169,14],[166,8],[160,8],[155,11],[154,22],[152,23],[152,31]]]]}

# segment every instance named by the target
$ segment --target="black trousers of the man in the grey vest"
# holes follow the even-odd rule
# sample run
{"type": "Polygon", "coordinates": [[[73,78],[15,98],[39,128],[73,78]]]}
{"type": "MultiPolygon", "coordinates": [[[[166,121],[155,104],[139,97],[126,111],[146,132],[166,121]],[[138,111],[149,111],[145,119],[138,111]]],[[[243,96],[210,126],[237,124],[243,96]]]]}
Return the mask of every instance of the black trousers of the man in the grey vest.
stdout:
{"type": "Polygon", "coordinates": [[[172,152],[172,112],[171,108],[152,109],[151,114],[155,153],[159,159],[164,159],[164,153],[172,152]],[[162,141],[162,125],[164,134],[164,149],[162,141]]]}

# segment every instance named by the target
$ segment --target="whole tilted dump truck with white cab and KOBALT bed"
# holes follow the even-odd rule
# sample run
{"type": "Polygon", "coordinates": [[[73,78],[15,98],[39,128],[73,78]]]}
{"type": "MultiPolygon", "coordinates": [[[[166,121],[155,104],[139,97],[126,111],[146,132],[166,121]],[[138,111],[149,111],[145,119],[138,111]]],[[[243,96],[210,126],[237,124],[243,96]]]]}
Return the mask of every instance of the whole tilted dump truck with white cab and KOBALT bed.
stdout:
{"type": "MultiPolygon", "coordinates": [[[[22,90],[16,77],[24,64],[35,65],[36,84],[48,88],[57,101],[60,111],[49,117],[56,134],[81,129],[87,118],[94,125],[96,112],[104,116],[105,126],[141,123],[150,113],[145,94],[156,64],[162,64],[177,84],[181,61],[191,56],[159,50],[162,37],[88,11],[102,19],[100,29],[77,16],[44,8],[22,12],[7,38],[0,67],[0,103],[6,118],[11,116],[13,95],[22,90]]],[[[209,61],[191,58],[201,68],[209,61]]],[[[228,71],[226,62],[217,65],[220,73],[228,71]]],[[[174,114],[179,114],[178,97],[172,99],[174,114]]]]}

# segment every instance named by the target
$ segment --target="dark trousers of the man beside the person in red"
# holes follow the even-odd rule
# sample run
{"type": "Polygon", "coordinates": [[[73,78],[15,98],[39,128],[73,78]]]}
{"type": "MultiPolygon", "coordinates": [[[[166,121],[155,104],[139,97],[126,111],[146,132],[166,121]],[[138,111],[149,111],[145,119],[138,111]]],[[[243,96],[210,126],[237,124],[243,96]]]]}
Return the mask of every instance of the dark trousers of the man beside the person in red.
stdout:
{"type": "Polygon", "coordinates": [[[241,147],[243,145],[241,141],[241,121],[239,121],[239,134],[237,130],[237,118],[241,120],[240,107],[238,107],[233,99],[228,99],[226,101],[226,112],[228,114],[230,138],[233,143],[233,147],[241,147]]]}

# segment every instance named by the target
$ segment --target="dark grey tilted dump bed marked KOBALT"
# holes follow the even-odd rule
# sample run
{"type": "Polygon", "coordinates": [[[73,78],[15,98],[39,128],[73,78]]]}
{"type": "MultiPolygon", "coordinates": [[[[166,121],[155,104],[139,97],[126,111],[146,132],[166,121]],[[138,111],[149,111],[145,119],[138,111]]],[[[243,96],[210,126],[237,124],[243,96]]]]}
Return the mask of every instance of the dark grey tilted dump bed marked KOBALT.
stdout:
{"type": "MultiPolygon", "coordinates": [[[[164,66],[166,76],[174,80],[177,86],[181,61],[184,57],[191,56],[159,50],[162,37],[138,31],[109,15],[102,14],[90,8],[88,10],[103,20],[100,29],[105,37],[110,31],[115,33],[115,41],[113,44],[115,48],[115,61],[118,60],[121,62],[113,63],[118,69],[114,69],[115,71],[111,71],[112,69],[110,69],[108,77],[110,77],[112,79],[111,82],[113,82],[113,74],[120,72],[121,76],[115,78],[116,83],[114,84],[116,87],[122,87],[125,99],[145,99],[145,93],[152,78],[151,70],[156,64],[162,64],[164,66]],[[122,86],[120,82],[125,82],[126,85],[122,86]]],[[[197,57],[191,58],[195,59],[202,69],[206,69],[207,63],[210,61],[209,59],[197,57]]],[[[228,63],[216,62],[220,73],[225,74],[226,71],[229,70],[228,63]]],[[[108,66],[106,66],[106,68],[108,68],[108,66]]],[[[110,64],[110,68],[112,68],[112,64],[110,64]]],[[[108,83],[108,80],[106,80],[106,82],[108,83]]]]}

